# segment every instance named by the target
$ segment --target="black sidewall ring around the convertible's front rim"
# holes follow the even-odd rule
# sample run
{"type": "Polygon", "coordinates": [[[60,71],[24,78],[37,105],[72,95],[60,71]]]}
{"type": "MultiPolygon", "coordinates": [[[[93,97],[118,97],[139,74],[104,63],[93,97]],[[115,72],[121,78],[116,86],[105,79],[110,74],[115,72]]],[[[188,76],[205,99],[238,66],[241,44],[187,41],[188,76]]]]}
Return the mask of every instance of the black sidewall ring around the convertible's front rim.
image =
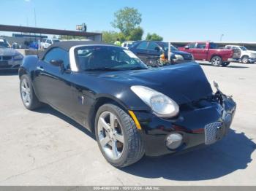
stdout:
{"type": "Polygon", "coordinates": [[[123,119],[121,119],[120,115],[118,114],[118,112],[116,111],[115,109],[115,105],[113,104],[105,104],[101,107],[99,107],[98,111],[97,111],[97,114],[96,114],[96,117],[95,117],[95,122],[94,122],[94,126],[95,126],[95,135],[96,135],[96,139],[97,139],[97,143],[99,145],[99,149],[100,151],[102,152],[102,155],[104,155],[105,159],[108,160],[109,163],[111,163],[112,165],[115,165],[115,166],[119,166],[121,165],[122,163],[125,162],[125,160],[127,160],[127,157],[128,157],[128,137],[127,137],[127,129],[125,128],[124,126],[124,121],[123,119]],[[124,148],[123,148],[123,153],[121,155],[120,158],[118,158],[117,160],[112,160],[110,157],[108,157],[108,155],[105,154],[105,151],[102,149],[102,146],[100,145],[99,143],[99,136],[98,136],[98,120],[99,120],[99,116],[100,114],[102,114],[102,112],[112,112],[113,114],[116,115],[116,117],[118,118],[118,121],[121,123],[121,130],[123,132],[123,135],[124,135],[124,148]]]}

